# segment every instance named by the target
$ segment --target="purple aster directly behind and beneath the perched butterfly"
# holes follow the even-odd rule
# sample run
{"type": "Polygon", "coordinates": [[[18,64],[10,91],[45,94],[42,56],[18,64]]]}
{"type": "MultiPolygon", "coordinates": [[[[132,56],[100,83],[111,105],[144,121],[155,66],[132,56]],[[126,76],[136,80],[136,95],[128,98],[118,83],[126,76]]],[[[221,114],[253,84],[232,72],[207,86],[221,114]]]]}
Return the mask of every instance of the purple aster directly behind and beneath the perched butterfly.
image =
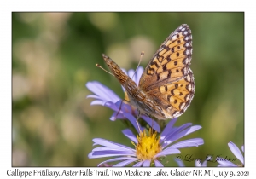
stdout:
{"type": "MultiPolygon", "coordinates": [[[[131,78],[133,77],[132,79],[138,85],[139,79],[143,74],[142,66],[138,67],[136,74],[134,74],[135,71],[133,69],[129,70],[128,73],[124,69],[123,71],[125,72],[125,74],[128,74],[129,77],[131,78]]],[[[131,121],[131,124],[137,129],[137,131],[139,131],[136,123],[137,119],[135,118],[135,116],[137,116],[136,109],[131,107],[131,105],[128,105],[122,102],[123,100],[118,95],[116,95],[113,92],[113,90],[110,90],[107,86],[99,82],[96,82],[96,81],[88,82],[86,84],[86,87],[95,94],[95,95],[87,96],[87,98],[95,99],[95,101],[92,101],[90,105],[102,105],[102,106],[111,108],[114,111],[114,113],[110,117],[111,120],[115,120],[116,118],[119,118],[119,119],[127,118],[129,121],[131,121]]],[[[125,91],[124,88],[123,90],[125,91]]],[[[160,132],[160,126],[154,120],[152,120],[146,115],[142,115],[141,118],[143,118],[143,120],[146,121],[151,127],[153,127],[154,130],[160,132]]],[[[141,126],[139,127],[140,129],[143,129],[141,126]]]]}

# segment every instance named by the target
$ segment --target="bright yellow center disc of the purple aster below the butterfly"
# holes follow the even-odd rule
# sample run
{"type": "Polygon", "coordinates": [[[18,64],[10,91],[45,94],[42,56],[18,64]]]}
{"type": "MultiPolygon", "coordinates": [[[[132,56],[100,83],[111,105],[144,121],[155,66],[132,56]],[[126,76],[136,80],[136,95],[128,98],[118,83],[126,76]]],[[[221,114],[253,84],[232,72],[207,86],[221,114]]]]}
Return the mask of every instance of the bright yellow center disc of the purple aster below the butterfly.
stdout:
{"type": "Polygon", "coordinates": [[[137,135],[137,145],[133,143],[136,148],[137,159],[140,160],[153,160],[155,154],[162,151],[160,146],[160,137],[156,136],[156,132],[152,134],[152,129],[149,129],[149,136],[147,136],[146,131],[140,132],[140,135],[137,135]]]}

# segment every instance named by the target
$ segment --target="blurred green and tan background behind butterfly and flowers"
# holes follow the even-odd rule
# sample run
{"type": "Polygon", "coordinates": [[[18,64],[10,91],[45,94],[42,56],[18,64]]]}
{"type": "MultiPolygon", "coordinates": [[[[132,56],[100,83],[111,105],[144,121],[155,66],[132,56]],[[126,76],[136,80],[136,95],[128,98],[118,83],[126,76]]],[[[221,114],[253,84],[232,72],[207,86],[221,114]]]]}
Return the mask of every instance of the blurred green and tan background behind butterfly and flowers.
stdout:
{"type": "MultiPolygon", "coordinates": [[[[183,139],[205,141],[182,155],[235,158],[228,142],[244,144],[243,13],[13,13],[12,165],[96,166],[105,159],[87,157],[95,137],[133,147],[112,110],[90,106],[84,84],[99,81],[123,98],[118,80],[95,66],[108,69],[102,53],[130,69],[144,51],[145,67],[181,24],[192,30],[195,97],[177,125],[201,125],[183,139]]],[[[166,166],[177,166],[173,156],[166,166]]]]}

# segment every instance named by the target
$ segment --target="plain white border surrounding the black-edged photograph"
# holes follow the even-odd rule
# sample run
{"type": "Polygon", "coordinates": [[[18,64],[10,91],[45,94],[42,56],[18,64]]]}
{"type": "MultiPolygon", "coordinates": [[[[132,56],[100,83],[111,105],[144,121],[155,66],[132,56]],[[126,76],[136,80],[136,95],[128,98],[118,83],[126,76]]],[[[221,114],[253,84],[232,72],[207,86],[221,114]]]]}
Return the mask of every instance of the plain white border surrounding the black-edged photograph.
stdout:
{"type": "MultiPolygon", "coordinates": [[[[253,2],[253,1],[250,1],[253,2]]],[[[7,170],[15,170],[11,167],[11,12],[13,11],[245,11],[245,151],[246,151],[246,167],[245,168],[225,168],[227,171],[248,170],[250,178],[256,176],[254,172],[255,158],[255,11],[253,3],[240,1],[1,1],[0,21],[1,21],[1,172],[0,176],[7,178],[7,170]]],[[[234,37],[236,38],[236,37],[234,37]]],[[[44,168],[20,168],[20,170],[33,170],[44,168]]],[[[51,170],[68,170],[69,168],[50,168],[51,170]]],[[[85,168],[83,168],[85,169],[85,168]]],[[[91,168],[95,170],[96,168],[91,168]]],[[[128,168],[125,168],[128,169],[128,168]]],[[[173,170],[175,168],[166,168],[164,170],[173,170]]],[[[179,168],[178,170],[197,170],[198,168],[179,168]]],[[[223,168],[202,168],[202,170],[223,170],[223,168]]],[[[79,168],[71,168],[71,170],[79,170],[79,168]]],[[[102,169],[103,170],[103,169],[102,169]]],[[[115,168],[115,170],[124,170],[115,168]]],[[[151,170],[149,168],[140,170],[151,170]]],[[[53,176],[49,176],[53,178],[53,176]]],[[[67,178],[61,177],[61,178],[67,178]]],[[[89,176],[76,176],[76,178],[84,178],[89,176]]],[[[116,177],[116,176],[112,176],[116,177]]],[[[119,176],[118,176],[119,177],[119,176]]],[[[126,176],[123,176],[126,177],[126,176]]],[[[131,176],[128,176],[131,177],[131,176]]],[[[142,176],[140,176],[142,177],[142,176]]],[[[155,178],[156,176],[143,176],[144,178],[155,178]]],[[[179,177],[184,178],[185,176],[179,177]]],[[[190,176],[196,178],[196,176],[190,176]]],[[[212,176],[211,176],[212,177],[212,176]]],[[[1,177],[2,178],[2,177],[1,177]]],[[[8,178],[17,178],[17,176],[9,176],[8,178]]],[[[38,178],[38,177],[30,177],[38,178]]],[[[58,177],[59,178],[59,177],[58,177]]],[[[104,177],[104,178],[107,178],[104,177]]],[[[109,177],[108,177],[109,178],[109,177]]],[[[187,178],[187,177],[186,177],[187,178]]]]}

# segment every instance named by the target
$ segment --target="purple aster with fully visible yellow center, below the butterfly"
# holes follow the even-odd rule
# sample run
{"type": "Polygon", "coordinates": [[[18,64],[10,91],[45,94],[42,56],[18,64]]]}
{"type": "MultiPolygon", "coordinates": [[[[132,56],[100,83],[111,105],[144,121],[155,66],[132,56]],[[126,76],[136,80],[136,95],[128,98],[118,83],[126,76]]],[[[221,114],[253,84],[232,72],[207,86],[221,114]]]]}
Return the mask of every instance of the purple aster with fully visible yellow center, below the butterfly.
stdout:
{"type": "Polygon", "coordinates": [[[173,124],[177,121],[177,118],[172,119],[166,128],[162,131],[160,136],[157,136],[156,132],[152,132],[149,129],[149,135],[147,136],[145,130],[135,136],[131,130],[123,130],[123,134],[131,140],[131,143],[135,146],[134,148],[124,146],[113,141],[107,141],[105,139],[95,138],[95,145],[101,145],[96,147],[88,154],[90,159],[103,158],[103,157],[116,157],[103,161],[98,166],[108,163],[116,162],[113,166],[163,166],[160,162],[162,157],[166,155],[180,153],[180,148],[184,147],[198,147],[202,145],[204,141],[201,138],[193,138],[184,141],[178,141],[175,144],[173,142],[187,136],[190,133],[201,129],[200,125],[192,126],[191,123],[183,124],[179,127],[174,127],[173,124]],[[135,163],[135,164],[134,164],[135,163]]]}

